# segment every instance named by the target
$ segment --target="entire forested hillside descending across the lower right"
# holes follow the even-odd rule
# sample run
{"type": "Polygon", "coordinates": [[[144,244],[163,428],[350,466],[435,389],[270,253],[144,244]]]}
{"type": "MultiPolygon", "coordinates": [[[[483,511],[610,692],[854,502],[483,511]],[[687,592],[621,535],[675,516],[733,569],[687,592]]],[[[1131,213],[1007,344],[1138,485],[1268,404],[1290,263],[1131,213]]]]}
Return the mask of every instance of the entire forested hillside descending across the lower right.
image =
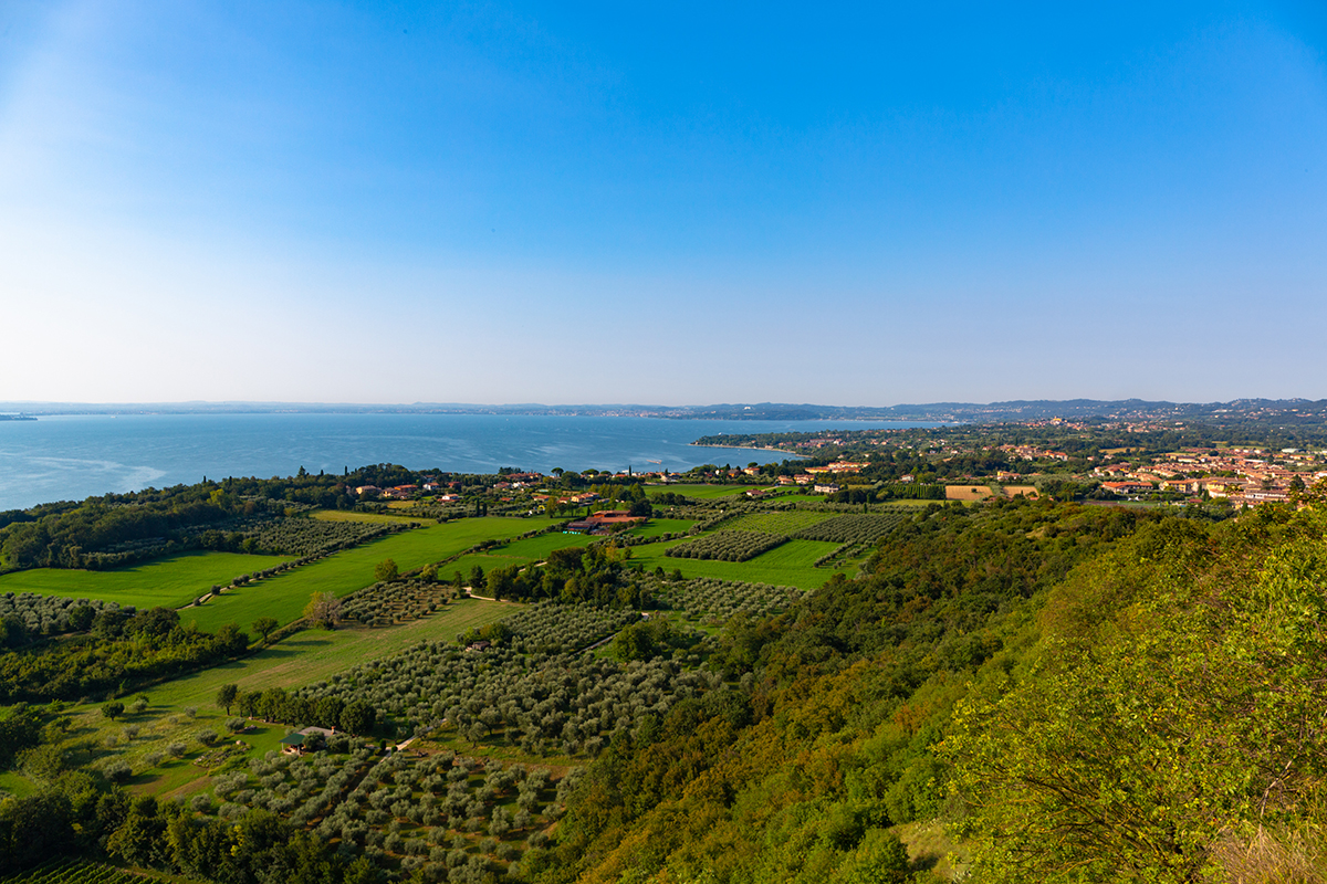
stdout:
{"type": "Polygon", "coordinates": [[[1323,527],[920,514],[868,577],[731,631],[734,689],[616,740],[527,873],[924,881],[886,830],[940,818],[970,880],[1291,880],[1320,819],[1323,527]]]}

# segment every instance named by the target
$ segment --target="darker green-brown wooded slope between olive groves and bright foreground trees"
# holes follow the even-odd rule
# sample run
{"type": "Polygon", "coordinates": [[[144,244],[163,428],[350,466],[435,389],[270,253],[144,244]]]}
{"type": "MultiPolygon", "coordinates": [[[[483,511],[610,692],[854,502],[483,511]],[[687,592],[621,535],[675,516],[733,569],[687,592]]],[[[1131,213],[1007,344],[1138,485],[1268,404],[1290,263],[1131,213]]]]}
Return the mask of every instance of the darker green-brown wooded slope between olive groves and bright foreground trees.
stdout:
{"type": "Polygon", "coordinates": [[[1038,599],[1148,518],[1026,501],[917,513],[868,577],[731,623],[710,665],[736,689],[614,740],[531,875],[912,875],[880,830],[942,810],[932,747],[965,683],[1016,660],[1038,599]]]}

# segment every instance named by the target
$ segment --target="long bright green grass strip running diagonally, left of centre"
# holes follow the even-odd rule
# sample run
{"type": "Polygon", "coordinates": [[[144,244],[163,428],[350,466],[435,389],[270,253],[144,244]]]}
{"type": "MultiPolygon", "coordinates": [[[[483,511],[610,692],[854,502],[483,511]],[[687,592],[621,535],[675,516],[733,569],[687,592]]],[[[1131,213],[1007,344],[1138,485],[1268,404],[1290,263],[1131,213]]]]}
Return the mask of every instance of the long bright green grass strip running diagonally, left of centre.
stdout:
{"type": "MultiPolygon", "coordinates": [[[[415,529],[344,550],[304,567],[245,584],[207,604],[180,611],[180,619],[212,631],[226,623],[248,626],[260,616],[285,624],[304,611],[314,592],[344,596],[373,583],[373,569],[393,559],[402,571],[438,562],[488,538],[508,538],[531,530],[519,518],[464,518],[415,529]]],[[[450,570],[445,569],[450,574],[450,570]]]]}

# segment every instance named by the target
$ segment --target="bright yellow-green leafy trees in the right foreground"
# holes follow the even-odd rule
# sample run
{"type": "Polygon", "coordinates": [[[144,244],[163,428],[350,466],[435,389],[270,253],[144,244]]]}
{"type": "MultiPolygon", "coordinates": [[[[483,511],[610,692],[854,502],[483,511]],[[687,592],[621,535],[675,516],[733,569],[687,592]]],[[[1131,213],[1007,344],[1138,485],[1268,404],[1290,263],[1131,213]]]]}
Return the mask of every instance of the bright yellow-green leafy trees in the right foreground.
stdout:
{"type": "Polygon", "coordinates": [[[1320,824],[1327,518],[1274,520],[1140,533],[1056,591],[1026,673],[962,704],[945,757],[983,880],[1220,877],[1231,843],[1320,824]]]}

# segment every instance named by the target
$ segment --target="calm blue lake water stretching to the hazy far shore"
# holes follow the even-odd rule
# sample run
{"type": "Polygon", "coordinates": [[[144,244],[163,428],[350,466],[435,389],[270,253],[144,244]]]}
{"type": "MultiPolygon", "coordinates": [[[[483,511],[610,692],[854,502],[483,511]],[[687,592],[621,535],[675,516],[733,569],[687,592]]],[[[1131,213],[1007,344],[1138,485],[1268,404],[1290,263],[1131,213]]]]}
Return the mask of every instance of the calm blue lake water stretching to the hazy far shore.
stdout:
{"type": "Polygon", "coordinates": [[[697,448],[717,433],[805,432],[932,423],[661,420],[545,415],[117,415],[0,420],[0,510],[204,476],[340,473],[365,464],[492,473],[518,467],[685,470],[779,461],[776,452],[697,448]]]}

